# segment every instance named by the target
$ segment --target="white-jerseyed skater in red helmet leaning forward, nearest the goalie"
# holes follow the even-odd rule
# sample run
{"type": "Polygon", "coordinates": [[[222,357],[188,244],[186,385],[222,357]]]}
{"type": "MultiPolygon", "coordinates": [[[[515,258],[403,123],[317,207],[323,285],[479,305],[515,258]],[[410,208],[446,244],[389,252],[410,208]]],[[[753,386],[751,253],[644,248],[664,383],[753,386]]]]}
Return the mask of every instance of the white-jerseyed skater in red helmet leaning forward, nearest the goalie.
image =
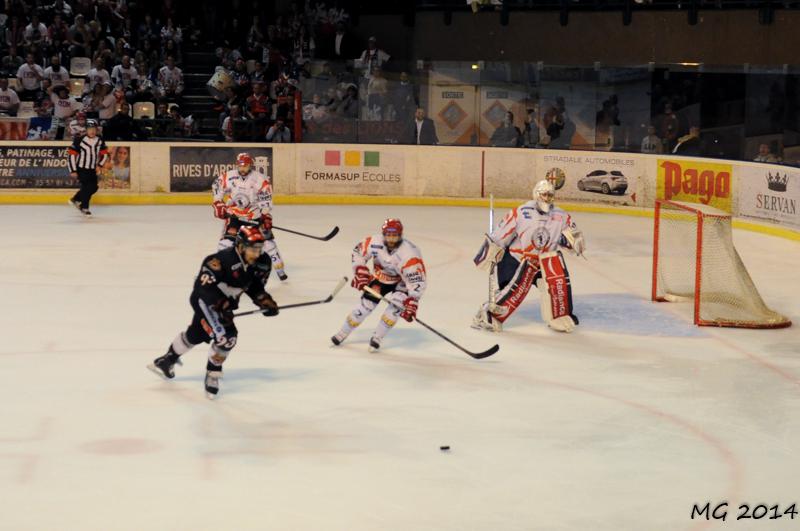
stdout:
{"type": "MultiPolygon", "coordinates": [[[[426,274],[422,254],[416,245],[403,239],[403,224],[399,219],[387,219],[380,234],[364,238],[353,249],[353,281],[351,285],[361,291],[365,286],[396,303],[384,310],[372,338],[370,352],[377,351],[381,341],[402,317],[414,320],[419,300],[425,291],[426,274]],[[372,271],[368,267],[372,260],[372,271]]],[[[380,299],[364,292],[358,306],[350,312],[339,332],[331,337],[334,345],[341,345],[358,325],[378,306],[380,299]]]]}

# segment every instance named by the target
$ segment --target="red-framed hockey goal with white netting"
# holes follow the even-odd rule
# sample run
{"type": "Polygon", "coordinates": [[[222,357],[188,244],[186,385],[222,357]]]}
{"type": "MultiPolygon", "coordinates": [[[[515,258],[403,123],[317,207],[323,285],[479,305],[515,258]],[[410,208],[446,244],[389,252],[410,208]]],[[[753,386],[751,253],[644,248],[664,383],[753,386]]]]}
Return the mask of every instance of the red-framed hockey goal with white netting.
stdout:
{"type": "Polygon", "coordinates": [[[733,246],[730,214],[659,199],[653,240],[653,300],[694,300],[694,322],[701,326],[792,324],[764,304],[733,246]]]}

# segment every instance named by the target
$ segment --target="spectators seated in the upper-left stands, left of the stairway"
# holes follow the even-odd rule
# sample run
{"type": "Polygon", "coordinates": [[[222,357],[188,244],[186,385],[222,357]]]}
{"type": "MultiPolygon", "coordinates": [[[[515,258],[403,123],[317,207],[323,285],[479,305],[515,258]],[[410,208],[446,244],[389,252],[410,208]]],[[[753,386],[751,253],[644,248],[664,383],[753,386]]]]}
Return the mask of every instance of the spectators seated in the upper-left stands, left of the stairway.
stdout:
{"type": "Polygon", "coordinates": [[[0,79],[7,79],[0,81],[0,115],[52,117],[56,139],[80,134],[87,118],[100,120],[107,139],[143,139],[153,130],[133,121],[133,108],[137,118],[158,119],[156,129],[191,134],[191,121],[179,111],[179,119],[168,109],[154,113],[181,103],[184,37],[191,46],[199,35],[175,24],[169,0],[155,17],[135,6],[126,0],[0,3],[0,79]]]}

